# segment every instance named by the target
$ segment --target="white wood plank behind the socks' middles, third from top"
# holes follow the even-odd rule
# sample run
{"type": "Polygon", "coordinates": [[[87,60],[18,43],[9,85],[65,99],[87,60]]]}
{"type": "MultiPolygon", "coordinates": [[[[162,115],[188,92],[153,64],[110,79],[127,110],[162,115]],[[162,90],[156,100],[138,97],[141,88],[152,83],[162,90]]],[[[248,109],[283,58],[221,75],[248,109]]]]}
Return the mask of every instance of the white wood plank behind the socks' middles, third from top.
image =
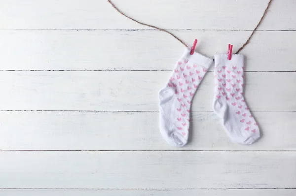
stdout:
{"type": "MultiPolygon", "coordinates": [[[[158,110],[168,71],[1,71],[1,110],[158,110]]],[[[253,111],[296,111],[295,72],[248,72],[253,111]]],[[[213,72],[202,81],[193,111],[212,111],[213,72]]]]}

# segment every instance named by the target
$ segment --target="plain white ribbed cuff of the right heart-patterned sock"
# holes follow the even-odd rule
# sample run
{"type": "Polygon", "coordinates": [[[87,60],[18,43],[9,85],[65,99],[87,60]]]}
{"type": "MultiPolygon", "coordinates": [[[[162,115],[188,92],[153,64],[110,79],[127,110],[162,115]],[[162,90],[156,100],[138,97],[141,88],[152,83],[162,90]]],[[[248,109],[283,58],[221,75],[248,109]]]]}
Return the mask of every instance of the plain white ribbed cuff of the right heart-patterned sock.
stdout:
{"type": "Polygon", "coordinates": [[[224,65],[243,67],[244,56],[240,54],[232,54],[231,60],[228,60],[227,54],[215,55],[215,66],[219,67],[224,65]]]}

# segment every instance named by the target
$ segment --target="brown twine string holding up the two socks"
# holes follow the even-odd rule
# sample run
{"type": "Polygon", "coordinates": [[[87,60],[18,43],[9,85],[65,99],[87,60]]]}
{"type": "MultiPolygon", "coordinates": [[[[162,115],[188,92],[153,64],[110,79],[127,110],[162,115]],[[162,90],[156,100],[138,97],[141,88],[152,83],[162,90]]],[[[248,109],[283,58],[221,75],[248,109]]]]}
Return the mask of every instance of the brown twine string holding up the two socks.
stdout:
{"type": "MultiPolygon", "coordinates": [[[[247,39],[247,41],[243,44],[242,47],[240,47],[240,48],[238,49],[238,51],[237,51],[235,54],[238,54],[242,49],[244,49],[244,47],[245,47],[246,45],[249,44],[249,42],[250,42],[251,38],[253,37],[254,33],[256,32],[256,30],[258,29],[259,25],[260,25],[261,22],[263,21],[263,18],[265,17],[265,15],[266,15],[266,13],[267,13],[267,10],[268,10],[268,8],[269,8],[269,6],[270,6],[270,4],[271,4],[271,1],[272,1],[272,0],[269,0],[269,2],[268,2],[268,4],[267,4],[267,7],[266,7],[266,9],[264,10],[264,13],[263,13],[263,15],[262,15],[262,17],[261,17],[259,23],[258,23],[257,26],[255,27],[255,29],[252,31],[252,33],[251,33],[251,35],[249,36],[249,38],[247,39]]],[[[113,3],[111,0],[108,0],[108,2],[114,7],[114,9],[116,9],[116,10],[117,10],[120,14],[122,14],[123,16],[125,16],[125,17],[127,17],[127,18],[129,18],[129,19],[135,21],[136,23],[141,24],[141,25],[145,25],[145,26],[147,26],[147,27],[151,27],[151,28],[157,29],[157,30],[159,30],[159,31],[162,31],[162,32],[165,32],[165,33],[169,33],[170,35],[172,35],[173,37],[175,37],[175,39],[177,39],[178,41],[180,41],[185,47],[188,48],[188,46],[185,44],[185,42],[183,42],[181,39],[179,39],[179,38],[178,38],[176,35],[174,35],[173,33],[170,33],[170,32],[168,32],[167,30],[161,29],[161,28],[159,28],[159,27],[155,27],[155,26],[153,26],[153,25],[148,25],[148,24],[142,23],[142,22],[140,22],[140,21],[138,21],[138,20],[136,20],[136,19],[133,19],[132,17],[127,16],[126,14],[122,13],[122,12],[121,12],[121,11],[120,11],[120,10],[114,5],[114,3],[113,3]]]]}

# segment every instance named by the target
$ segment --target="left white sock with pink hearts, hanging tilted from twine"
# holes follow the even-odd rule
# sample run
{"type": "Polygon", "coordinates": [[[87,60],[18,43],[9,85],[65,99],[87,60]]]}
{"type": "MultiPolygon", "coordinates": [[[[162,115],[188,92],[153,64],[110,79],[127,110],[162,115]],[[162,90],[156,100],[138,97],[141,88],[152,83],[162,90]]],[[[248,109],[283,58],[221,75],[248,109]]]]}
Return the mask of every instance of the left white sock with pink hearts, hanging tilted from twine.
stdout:
{"type": "Polygon", "coordinates": [[[168,84],[159,92],[159,125],[163,138],[172,146],[187,143],[193,95],[213,60],[186,49],[168,84]]]}

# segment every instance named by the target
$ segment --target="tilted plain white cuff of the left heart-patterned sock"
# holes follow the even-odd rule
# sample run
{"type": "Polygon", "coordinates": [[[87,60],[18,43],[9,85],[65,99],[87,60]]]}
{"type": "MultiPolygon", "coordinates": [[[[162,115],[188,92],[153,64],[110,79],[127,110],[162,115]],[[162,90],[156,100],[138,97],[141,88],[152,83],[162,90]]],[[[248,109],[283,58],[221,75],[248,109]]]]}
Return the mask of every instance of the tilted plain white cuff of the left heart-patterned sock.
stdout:
{"type": "Polygon", "coordinates": [[[208,69],[212,65],[213,59],[203,56],[197,52],[194,52],[192,55],[190,55],[190,51],[191,50],[186,48],[185,52],[182,55],[182,59],[187,59],[188,61],[203,66],[206,69],[208,69]]]}

